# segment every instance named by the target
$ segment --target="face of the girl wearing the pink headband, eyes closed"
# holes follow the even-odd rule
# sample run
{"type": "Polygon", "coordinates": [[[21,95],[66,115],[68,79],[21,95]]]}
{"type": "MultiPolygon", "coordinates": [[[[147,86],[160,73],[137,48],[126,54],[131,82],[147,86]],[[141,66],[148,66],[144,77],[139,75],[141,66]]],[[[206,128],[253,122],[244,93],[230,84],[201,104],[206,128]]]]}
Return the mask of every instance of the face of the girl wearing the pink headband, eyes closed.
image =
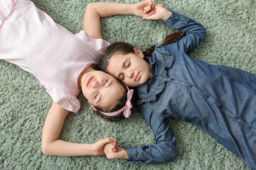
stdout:
{"type": "Polygon", "coordinates": [[[94,110],[94,106],[111,110],[124,94],[124,88],[117,79],[105,72],[87,72],[81,82],[82,94],[94,110]]]}

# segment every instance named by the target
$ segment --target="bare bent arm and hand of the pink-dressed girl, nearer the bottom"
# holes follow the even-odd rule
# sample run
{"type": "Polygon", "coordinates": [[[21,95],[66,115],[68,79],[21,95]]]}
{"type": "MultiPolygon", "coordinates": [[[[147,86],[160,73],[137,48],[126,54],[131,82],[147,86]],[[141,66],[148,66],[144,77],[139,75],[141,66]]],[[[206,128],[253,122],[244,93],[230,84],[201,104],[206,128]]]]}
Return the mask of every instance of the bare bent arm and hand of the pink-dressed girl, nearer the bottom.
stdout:
{"type": "Polygon", "coordinates": [[[85,155],[104,154],[103,147],[109,142],[115,142],[112,138],[104,138],[94,144],[78,144],[59,140],[63,123],[69,111],[53,102],[43,125],[42,152],[43,154],[73,157],[85,155]]]}

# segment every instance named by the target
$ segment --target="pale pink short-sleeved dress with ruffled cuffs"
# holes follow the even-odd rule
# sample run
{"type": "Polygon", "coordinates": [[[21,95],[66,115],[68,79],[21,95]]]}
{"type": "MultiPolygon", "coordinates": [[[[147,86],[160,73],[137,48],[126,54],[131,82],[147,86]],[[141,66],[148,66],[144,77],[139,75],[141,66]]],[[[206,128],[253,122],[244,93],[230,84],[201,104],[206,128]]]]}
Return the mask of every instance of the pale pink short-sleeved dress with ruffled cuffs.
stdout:
{"type": "Polygon", "coordinates": [[[95,64],[109,45],[87,33],[70,33],[32,1],[0,1],[0,60],[38,78],[55,103],[77,113],[78,76],[95,64]]]}

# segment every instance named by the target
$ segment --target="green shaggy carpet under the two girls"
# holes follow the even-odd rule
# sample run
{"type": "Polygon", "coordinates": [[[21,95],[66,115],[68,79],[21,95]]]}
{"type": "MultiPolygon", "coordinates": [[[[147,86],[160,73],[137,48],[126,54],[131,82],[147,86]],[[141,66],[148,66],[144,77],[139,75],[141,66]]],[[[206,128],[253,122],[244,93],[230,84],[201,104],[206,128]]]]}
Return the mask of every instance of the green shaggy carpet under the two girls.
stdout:
{"type": "MultiPolygon", "coordinates": [[[[87,4],[99,0],[33,0],[55,22],[72,33],[82,29],[87,4]]],[[[112,0],[114,1],[114,0],[112,0]]],[[[134,3],[138,0],[116,0],[134,3]]],[[[256,74],[255,0],[162,0],[172,9],[205,26],[206,38],[190,56],[256,74]]],[[[136,16],[102,19],[102,36],[126,41],[144,50],[161,42],[172,30],[162,21],[136,16]]],[[[109,123],[97,117],[79,96],[82,108],[70,113],[60,138],[92,143],[115,137],[124,148],[151,145],[154,137],[135,109],[127,120],[109,123]]],[[[169,120],[177,141],[174,162],[144,165],[98,157],[52,157],[41,153],[41,132],[52,100],[38,80],[22,69],[0,61],[0,169],[247,169],[242,161],[190,123],[169,120]]]]}

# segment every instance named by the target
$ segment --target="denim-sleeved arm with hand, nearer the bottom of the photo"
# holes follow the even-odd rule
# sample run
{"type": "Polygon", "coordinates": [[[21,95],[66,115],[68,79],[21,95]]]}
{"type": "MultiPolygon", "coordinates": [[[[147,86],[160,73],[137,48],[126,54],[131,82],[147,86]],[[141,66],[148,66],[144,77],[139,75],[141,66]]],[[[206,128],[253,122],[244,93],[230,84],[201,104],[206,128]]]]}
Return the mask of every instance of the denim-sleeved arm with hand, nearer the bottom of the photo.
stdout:
{"type": "Polygon", "coordinates": [[[107,159],[128,159],[129,162],[140,162],[142,164],[158,164],[175,159],[176,140],[174,132],[172,132],[167,120],[162,118],[163,116],[159,116],[163,113],[151,111],[148,105],[140,106],[140,109],[144,119],[154,133],[156,143],[150,146],[130,147],[126,150],[116,147],[115,152],[112,149],[114,145],[107,144],[103,148],[107,159]]]}

